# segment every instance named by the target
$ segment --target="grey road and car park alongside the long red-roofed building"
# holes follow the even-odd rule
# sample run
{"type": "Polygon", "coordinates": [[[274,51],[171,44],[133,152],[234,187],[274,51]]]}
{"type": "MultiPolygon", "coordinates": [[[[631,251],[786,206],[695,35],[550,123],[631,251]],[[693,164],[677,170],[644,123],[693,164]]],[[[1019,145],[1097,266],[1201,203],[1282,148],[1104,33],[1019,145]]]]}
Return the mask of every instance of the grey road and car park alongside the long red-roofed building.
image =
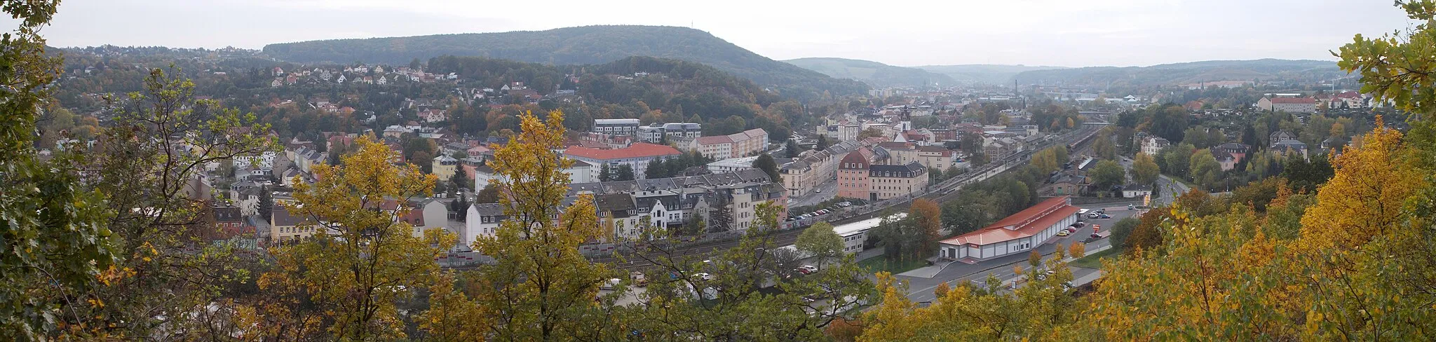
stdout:
{"type": "MultiPolygon", "coordinates": [[[[1093,226],[1101,226],[1103,233],[1106,233],[1106,230],[1110,228],[1111,224],[1116,223],[1117,220],[1140,213],[1140,210],[1127,210],[1126,203],[1078,205],[1078,207],[1106,208],[1107,214],[1111,216],[1111,218],[1083,218],[1084,221],[1088,223],[1087,227],[1077,230],[1077,233],[1071,236],[1055,237],[1048,243],[1038,246],[1037,247],[1038,253],[1043,253],[1044,257],[1050,257],[1058,244],[1067,247],[1074,241],[1088,240],[1087,237],[1091,236],[1093,226]]],[[[1106,247],[1110,247],[1110,240],[1106,237],[1087,241],[1088,253],[1106,247]]],[[[1012,273],[1014,264],[1022,266],[1022,269],[1031,267],[1030,264],[1027,264],[1027,257],[1028,253],[1017,253],[992,260],[984,260],[975,264],[954,262],[949,263],[946,267],[943,267],[942,272],[938,272],[938,274],[933,277],[913,277],[913,276],[899,274],[898,279],[908,282],[908,289],[910,289],[908,292],[908,299],[912,299],[913,302],[932,302],[935,299],[935,296],[932,295],[932,289],[936,289],[938,285],[941,283],[948,283],[948,285],[955,285],[958,282],[984,283],[988,274],[997,276],[1004,283],[1010,283],[1012,282],[1014,277],[1017,277],[1017,274],[1012,273]]],[[[1073,267],[1073,277],[1081,279],[1087,274],[1091,274],[1093,272],[1096,270],[1073,267]]]]}

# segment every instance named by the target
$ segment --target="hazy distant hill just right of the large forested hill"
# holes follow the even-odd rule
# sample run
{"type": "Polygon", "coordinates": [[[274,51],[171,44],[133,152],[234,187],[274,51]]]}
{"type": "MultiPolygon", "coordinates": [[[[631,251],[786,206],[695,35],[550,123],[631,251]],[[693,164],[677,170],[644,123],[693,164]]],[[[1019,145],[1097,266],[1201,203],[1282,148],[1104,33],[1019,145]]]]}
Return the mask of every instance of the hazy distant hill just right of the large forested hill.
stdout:
{"type": "Polygon", "coordinates": [[[833,78],[862,80],[863,83],[879,88],[956,83],[948,75],[933,73],[915,68],[890,66],[862,59],[800,57],[783,62],[801,66],[803,69],[821,72],[833,78]]]}

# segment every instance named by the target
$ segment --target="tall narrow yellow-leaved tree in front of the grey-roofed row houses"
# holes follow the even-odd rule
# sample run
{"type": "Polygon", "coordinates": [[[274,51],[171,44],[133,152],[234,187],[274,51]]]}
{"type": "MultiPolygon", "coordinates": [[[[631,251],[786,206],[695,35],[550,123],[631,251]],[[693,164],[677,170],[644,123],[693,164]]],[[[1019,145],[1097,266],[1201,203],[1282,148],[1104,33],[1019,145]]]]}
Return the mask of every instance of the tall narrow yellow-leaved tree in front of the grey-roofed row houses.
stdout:
{"type": "Polygon", "coordinates": [[[491,338],[580,336],[579,331],[602,325],[587,312],[607,270],[579,254],[579,244],[606,233],[599,228],[592,195],[559,210],[569,191],[563,170],[573,162],[553,152],[563,147],[563,112],[550,112],[547,121],[533,114],[520,119],[518,137],[494,151],[493,167],[501,181],[493,185],[504,190],[498,203],[511,218],[500,223],[494,236],[474,243],[475,251],[495,260],[478,273],[488,286],[474,297],[497,318],[491,338]]]}

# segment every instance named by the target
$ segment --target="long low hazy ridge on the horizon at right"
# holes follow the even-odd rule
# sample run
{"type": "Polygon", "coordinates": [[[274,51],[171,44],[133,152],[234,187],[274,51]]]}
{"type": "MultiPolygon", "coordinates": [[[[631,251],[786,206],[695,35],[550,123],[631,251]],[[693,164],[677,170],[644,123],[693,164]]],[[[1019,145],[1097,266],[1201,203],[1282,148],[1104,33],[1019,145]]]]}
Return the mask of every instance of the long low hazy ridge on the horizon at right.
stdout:
{"type": "Polygon", "coordinates": [[[1327,60],[1203,60],[1153,66],[1091,66],[1074,69],[1028,70],[1018,82],[1032,85],[1109,85],[1153,86],[1189,85],[1221,80],[1320,82],[1346,76],[1335,62],[1327,60]]]}

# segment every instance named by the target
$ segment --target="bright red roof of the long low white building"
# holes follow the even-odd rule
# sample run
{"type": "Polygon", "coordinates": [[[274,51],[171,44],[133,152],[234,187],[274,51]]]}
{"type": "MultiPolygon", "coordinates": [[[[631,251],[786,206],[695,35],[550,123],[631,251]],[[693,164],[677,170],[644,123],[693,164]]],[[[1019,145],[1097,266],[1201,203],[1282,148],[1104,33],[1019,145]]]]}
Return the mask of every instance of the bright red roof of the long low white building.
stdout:
{"type": "Polygon", "coordinates": [[[1067,204],[1066,195],[1054,197],[1043,203],[1038,203],[1037,205],[1018,211],[1017,214],[1008,216],[1007,218],[1002,218],[981,230],[966,233],[954,239],[942,240],[942,243],[954,246],[962,246],[962,244],[984,246],[984,244],[1010,241],[1014,239],[1030,237],[1035,236],[1037,233],[1041,233],[1044,228],[1051,227],[1053,224],[1060,223],[1063,218],[1076,214],[1077,210],[1078,208],[1076,205],[1067,204]],[[1014,228],[1007,228],[1008,226],[1012,226],[1014,228]]]}

